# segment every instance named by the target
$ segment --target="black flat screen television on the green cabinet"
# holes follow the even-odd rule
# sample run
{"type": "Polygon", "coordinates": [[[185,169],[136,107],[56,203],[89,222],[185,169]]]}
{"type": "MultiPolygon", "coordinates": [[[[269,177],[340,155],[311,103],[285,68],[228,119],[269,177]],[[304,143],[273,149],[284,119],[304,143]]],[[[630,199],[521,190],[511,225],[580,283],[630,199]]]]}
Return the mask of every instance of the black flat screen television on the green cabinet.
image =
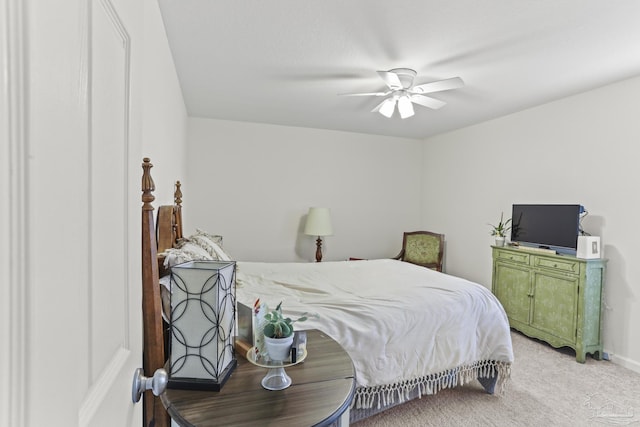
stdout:
{"type": "Polygon", "coordinates": [[[575,255],[581,205],[513,205],[511,241],[575,255]]]}

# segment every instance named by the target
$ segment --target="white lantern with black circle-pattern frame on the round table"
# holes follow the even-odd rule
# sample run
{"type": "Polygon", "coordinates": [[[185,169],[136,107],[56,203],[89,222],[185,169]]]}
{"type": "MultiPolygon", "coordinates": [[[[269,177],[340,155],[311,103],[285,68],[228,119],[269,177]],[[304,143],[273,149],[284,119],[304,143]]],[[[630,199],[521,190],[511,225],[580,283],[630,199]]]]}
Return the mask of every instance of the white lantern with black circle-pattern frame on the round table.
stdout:
{"type": "Polygon", "coordinates": [[[220,391],[237,365],[233,261],[171,268],[169,388],[220,391]]]}

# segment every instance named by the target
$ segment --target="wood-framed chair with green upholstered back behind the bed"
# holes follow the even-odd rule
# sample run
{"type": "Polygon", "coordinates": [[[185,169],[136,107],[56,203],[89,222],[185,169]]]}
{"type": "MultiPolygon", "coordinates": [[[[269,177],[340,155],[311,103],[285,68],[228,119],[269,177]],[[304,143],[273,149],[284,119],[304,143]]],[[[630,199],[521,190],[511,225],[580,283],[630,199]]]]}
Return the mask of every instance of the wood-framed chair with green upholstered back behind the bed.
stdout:
{"type": "Polygon", "coordinates": [[[395,259],[442,271],[443,256],[444,234],[406,231],[402,238],[402,250],[395,259]]]}

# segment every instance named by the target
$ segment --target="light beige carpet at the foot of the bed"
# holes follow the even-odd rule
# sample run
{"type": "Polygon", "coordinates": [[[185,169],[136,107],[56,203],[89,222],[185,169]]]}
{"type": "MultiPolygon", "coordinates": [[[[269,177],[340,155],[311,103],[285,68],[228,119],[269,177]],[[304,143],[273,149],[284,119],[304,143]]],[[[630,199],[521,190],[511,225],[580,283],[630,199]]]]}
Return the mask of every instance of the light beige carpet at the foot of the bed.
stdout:
{"type": "Polygon", "coordinates": [[[425,396],[355,427],[640,426],[640,374],[511,333],[514,363],[502,395],[474,381],[425,396]]]}

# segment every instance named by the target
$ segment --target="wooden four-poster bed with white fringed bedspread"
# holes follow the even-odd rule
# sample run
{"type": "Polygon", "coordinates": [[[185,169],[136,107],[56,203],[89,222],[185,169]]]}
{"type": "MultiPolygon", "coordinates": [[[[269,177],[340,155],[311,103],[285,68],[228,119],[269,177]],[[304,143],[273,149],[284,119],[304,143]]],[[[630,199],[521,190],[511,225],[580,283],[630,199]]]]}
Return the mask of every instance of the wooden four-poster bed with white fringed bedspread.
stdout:
{"type": "MultiPolygon", "coordinates": [[[[153,201],[150,167],[145,159],[143,202],[145,194],[153,201]]],[[[157,242],[162,244],[155,240],[150,201],[143,204],[143,264],[150,264],[143,265],[143,278],[145,267],[156,271],[143,283],[145,362],[148,348],[162,355],[145,372],[164,363],[158,345],[166,331],[162,270],[190,259],[231,258],[221,236],[202,230],[182,235],[179,184],[174,205],[159,209],[157,242]]],[[[509,323],[498,300],[479,284],[394,259],[235,261],[238,302],[252,306],[260,298],[275,307],[282,301],[291,317],[314,313],[297,329],[319,329],[349,353],[357,382],[352,422],[470,381],[480,381],[489,393],[504,392],[513,361],[509,323]]]]}

